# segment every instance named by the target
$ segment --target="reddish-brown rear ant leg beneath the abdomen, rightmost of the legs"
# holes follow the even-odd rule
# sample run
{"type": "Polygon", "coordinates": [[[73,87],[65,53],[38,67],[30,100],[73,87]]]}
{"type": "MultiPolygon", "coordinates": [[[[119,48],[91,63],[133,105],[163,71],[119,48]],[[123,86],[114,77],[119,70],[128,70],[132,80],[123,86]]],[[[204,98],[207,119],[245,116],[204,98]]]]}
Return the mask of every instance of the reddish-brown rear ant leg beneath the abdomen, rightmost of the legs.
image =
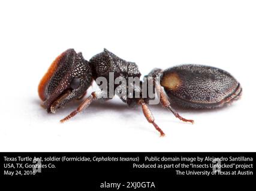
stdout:
{"type": "Polygon", "coordinates": [[[170,112],[173,113],[173,115],[176,116],[176,118],[179,118],[181,121],[191,122],[191,124],[194,124],[194,120],[182,118],[182,116],[180,116],[179,113],[177,113],[176,110],[174,110],[173,107],[171,107],[170,101],[168,101],[168,98],[165,95],[164,90],[162,90],[162,87],[158,84],[158,82],[155,82],[155,88],[162,106],[167,107],[167,109],[170,110],[170,112]]]}

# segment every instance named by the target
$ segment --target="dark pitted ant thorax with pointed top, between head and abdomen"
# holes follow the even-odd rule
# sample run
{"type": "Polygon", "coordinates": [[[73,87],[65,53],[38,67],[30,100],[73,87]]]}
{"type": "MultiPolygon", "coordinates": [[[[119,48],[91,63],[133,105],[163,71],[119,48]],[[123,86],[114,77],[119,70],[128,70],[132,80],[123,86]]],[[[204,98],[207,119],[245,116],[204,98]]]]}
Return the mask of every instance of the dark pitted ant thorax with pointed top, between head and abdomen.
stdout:
{"type": "Polygon", "coordinates": [[[146,78],[140,80],[137,64],[125,61],[106,49],[92,57],[89,63],[104,99],[119,96],[128,106],[135,106],[141,98],[146,102],[155,98],[153,81],[150,84],[146,78]]]}

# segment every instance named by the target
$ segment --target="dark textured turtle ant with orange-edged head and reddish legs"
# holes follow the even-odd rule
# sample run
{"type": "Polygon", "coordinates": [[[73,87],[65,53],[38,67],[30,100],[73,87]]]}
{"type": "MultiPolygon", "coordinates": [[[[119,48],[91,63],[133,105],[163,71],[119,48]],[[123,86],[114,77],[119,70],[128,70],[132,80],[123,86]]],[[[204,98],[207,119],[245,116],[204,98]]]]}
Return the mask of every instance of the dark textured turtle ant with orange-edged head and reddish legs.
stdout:
{"type": "MultiPolygon", "coordinates": [[[[106,78],[105,90],[94,91],[91,96],[82,101],[76,110],[61,119],[61,122],[65,122],[85,110],[92,101],[112,98],[109,89],[110,73],[113,73],[115,79],[122,77],[127,82],[129,77],[140,78],[141,76],[137,64],[125,61],[106,49],[89,61],[83,58],[82,53],[68,49],[50,65],[38,85],[38,94],[44,101],[43,106],[47,112],[55,113],[71,101],[83,98],[94,80],[99,77],[106,78]]],[[[153,92],[156,91],[158,94],[162,106],[170,110],[176,118],[192,124],[194,121],[180,116],[171,103],[186,108],[213,109],[237,100],[242,94],[239,82],[230,73],[216,67],[182,64],[166,70],[153,69],[147,76],[144,76],[144,81],[140,81],[138,85],[131,85],[132,94],[137,93],[139,96],[130,97],[127,94],[119,97],[130,107],[141,106],[147,121],[159,131],[161,136],[165,134],[155,123],[149,109],[151,98],[148,92],[147,96],[143,97],[142,87],[145,81],[152,82],[153,92]]],[[[114,85],[115,90],[119,91],[119,87],[118,84],[114,85]]],[[[128,89],[128,87],[122,88],[128,89]]]]}

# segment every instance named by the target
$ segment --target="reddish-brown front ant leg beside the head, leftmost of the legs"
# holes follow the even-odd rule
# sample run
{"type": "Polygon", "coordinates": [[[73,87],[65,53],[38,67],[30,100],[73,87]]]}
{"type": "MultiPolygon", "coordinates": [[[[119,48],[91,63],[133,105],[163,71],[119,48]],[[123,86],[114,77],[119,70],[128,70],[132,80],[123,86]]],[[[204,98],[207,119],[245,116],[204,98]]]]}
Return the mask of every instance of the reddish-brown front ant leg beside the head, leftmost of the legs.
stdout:
{"type": "Polygon", "coordinates": [[[70,118],[73,118],[73,116],[77,115],[77,113],[82,112],[82,110],[86,109],[93,100],[97,100],[99,96],[97,96],[97,93],[94,91],[91,96],[89,96],[88,98],[86,98],[80,105],[79,107],[77,107],[76,110],[74,110],[73,112],[70,113],[70,115],[66,116],[64,119],[61,119],[61,122],[65,122],[70,118]]]}

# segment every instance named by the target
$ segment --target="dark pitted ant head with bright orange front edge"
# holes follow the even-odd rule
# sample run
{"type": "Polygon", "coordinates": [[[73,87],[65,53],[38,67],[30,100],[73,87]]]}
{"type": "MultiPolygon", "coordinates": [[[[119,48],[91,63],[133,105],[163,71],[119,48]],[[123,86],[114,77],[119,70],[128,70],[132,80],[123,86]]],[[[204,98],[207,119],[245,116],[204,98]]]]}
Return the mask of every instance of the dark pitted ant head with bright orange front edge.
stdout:
{"type": "Polygon", "coordinates": [[[71,100],[85,94],[92,82],[92,70],[82,53],[68,49],[51,64],[38,85],[38,94],[48,112],[55,113],[71,100]]]}

